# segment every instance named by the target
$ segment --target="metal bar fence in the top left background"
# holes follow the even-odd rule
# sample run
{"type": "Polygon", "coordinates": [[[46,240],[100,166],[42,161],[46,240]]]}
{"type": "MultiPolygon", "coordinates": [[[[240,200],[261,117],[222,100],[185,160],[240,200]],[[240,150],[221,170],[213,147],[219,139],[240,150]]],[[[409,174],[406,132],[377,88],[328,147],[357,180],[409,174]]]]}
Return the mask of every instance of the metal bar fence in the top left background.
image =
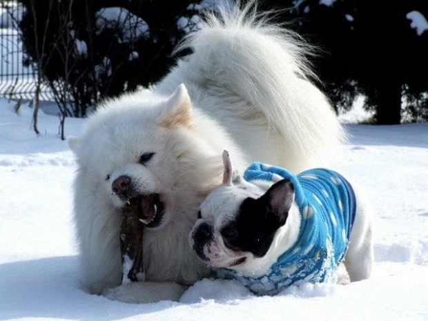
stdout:
{"type": "MultiPolygon", "coordinates": [[[[24,64],[19,21],[25,8],[16,0],[0,0],[0,97],[33,99],[35,72],[24,64]]],[[[52,100],[48,87],[43,86],[40,99],[52,100]]]]}

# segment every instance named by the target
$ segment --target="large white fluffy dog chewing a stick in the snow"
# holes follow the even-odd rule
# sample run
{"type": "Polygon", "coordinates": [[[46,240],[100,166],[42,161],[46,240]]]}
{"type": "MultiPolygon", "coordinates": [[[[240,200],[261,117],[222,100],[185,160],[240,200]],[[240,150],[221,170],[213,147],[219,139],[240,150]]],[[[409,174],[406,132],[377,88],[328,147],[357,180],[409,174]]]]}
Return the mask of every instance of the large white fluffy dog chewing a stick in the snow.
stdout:
{"type": "Polygon", "coordinates": [[[81,137],[75,225],[91,293],[129,302],[177,300],[209,273],[188,244],[206,195],[222,181],[220,155],[301,171],[343,131],[309,77],[307,46],[249,8],[209,16],[180,48],[193,53],[150,90],[106,101],[81,137]],[[144,220],[146,282],[121,284],[121,208],[144,220]],[[149,208],[149,210],[147,210],[149,208]]]}

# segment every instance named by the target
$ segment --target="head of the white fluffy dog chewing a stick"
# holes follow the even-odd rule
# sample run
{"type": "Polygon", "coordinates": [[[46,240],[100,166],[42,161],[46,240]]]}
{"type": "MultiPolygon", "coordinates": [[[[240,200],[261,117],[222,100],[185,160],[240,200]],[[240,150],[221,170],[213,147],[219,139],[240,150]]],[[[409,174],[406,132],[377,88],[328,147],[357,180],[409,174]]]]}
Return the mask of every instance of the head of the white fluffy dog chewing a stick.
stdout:
{"type": "Polygon", "coordinates": [[[83,139],[72,137],[68,143],[91,184],[82,193],[118,209],[133,204],[148,228],[159,228],[171,220],[174,195],[182,188],[179,177],[188,173],[183,158],[193,148],[186,139],[192,126],[190,97],[179,86],[168,99],[153,96],[142,106],[129,96],[126,102],[115,106],[109,101],[108,110],[121,108],[120,113],[99,110],[83,139]]]}

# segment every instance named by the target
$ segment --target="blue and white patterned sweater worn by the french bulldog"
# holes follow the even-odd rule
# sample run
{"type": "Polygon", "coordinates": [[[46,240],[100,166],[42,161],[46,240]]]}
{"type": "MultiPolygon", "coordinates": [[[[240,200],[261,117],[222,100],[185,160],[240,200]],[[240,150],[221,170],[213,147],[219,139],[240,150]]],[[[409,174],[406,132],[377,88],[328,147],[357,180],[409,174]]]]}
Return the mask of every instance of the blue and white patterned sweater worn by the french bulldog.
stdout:
{"type": "Polygon", "coordinates": [[[287,286],[334,280],[349,244],[356,215],[356,198],[344,177],[324,168],[293,175],[284,168],[259,162],[244,173],[244,179],[294,184],[295,203],[301,224],[298,240],[278,257],[267,275],[244,276],[235,270],[221,269],[222,278],[236,278],[257,295],[273,295],[287,286]]]}

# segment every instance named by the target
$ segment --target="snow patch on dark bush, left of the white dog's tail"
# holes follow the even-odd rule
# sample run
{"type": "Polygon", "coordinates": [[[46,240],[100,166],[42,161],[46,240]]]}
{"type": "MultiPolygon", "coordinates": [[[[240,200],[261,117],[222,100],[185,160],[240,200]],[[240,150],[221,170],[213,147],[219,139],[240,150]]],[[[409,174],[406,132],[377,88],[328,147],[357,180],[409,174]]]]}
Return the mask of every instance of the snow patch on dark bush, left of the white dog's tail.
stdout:
{"type": "Polygon", "coordinates": [[[97,17],[97,35],[106,28],[119,28],[122,32],[119,39],[121,42],[130,42],[148,35],[149,28],[146,21],[125,8],[102,8],[95,15],[97,17]]]}

